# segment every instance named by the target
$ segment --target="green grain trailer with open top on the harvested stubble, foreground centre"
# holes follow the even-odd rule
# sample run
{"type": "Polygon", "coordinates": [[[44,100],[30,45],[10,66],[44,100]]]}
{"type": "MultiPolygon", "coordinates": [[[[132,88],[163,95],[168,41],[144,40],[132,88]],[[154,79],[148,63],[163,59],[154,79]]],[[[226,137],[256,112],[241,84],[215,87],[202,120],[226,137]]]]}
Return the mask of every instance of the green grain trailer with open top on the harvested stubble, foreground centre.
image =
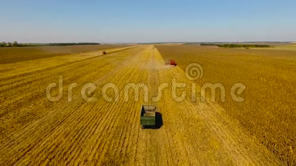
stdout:
{"type": "Polygon", "coordinates": [[[155,110],[155,105],[142,105],[140,116],[140,124],[142,128],[156,127],[155,110]]]}

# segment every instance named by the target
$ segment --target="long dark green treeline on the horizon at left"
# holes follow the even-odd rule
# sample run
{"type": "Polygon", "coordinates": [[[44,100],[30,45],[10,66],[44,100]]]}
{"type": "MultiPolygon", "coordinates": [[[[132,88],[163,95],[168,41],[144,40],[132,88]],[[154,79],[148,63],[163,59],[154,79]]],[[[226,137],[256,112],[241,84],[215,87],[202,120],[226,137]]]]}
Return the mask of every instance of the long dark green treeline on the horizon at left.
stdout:
{"type": "Polygon", "coordinates": [[[14,42],[0,42],[0,47],[32,47],[32,46],[66,46],[66,45],[100,45],[100,43],[17,43],[14,42]]]}

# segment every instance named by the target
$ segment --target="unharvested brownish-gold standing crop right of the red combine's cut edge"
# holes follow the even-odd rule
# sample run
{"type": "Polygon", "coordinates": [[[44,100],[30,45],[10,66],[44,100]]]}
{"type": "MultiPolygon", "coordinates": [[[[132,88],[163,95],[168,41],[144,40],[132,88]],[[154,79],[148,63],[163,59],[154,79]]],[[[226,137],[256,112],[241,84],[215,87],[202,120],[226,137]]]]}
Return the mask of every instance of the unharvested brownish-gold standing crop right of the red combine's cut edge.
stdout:
{"type": "Polygon", "coordinates": [[[196,45],[159,45],[157,49],[163,59],[175,59],[184,71],[190,63],[202,65],[204,76],[196,83],[221,82],[225,86],[226,101],[217,100],[225,114],[238,120],[254,141],[285,163],[295,163],[296,51],[196,45]],[[241,103],[229,95],[236,82],[246,86],[241,103]]]}

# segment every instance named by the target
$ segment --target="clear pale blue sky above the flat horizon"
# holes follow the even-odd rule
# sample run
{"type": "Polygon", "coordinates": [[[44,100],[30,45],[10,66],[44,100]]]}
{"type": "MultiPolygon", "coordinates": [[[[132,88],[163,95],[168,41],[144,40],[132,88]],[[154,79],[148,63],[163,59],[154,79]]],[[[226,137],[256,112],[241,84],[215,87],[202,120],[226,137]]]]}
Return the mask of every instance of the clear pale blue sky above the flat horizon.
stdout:
{"type": "Polygon", "coordinates": [[[0,41],[296,41],[296,1],[3,1],[0,41]]]}

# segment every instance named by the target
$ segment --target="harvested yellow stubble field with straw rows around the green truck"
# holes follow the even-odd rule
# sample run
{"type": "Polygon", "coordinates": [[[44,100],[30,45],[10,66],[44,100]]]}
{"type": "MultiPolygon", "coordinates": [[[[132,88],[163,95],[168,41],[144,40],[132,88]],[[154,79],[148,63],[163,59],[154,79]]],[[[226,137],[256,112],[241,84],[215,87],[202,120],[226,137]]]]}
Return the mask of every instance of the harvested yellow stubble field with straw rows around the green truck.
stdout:
{"type": "MultiPolygon", "coordinates": [[[[215,102],[192,102],[192,81],[184,71],[166,66],[153,45],[111,48],[54,58],[2,64],[0,105],[1,165],[208,165],[283,164],[263,144],[244,132],[240,123],[215,102]],[[46,87],[63,77],[58,101],[46,97],[46,87]],[[183,101],[174,100],[172,81],[184,82],[183,101]],[[68,87],[76,83],[68,101],[68,87]],[[87,94],[87,83],[96,89],[87,94]],[[106,101],[106,84],[112,101],[106,101]],[[135,91],[126,85],[144,84],[135,91]],[[159,101],[158,87],[167,84],[159,101]],[[140,107],[155,104],[163,118],[160,129],[141,129],[140,107]]],[[[182,95],[177,91],[177,95],[182,95]]],[[[199,87],[196,85],[196,94],[199,87]]],[[[52,96],[58,95],[53,89],[52,96]]]]}

